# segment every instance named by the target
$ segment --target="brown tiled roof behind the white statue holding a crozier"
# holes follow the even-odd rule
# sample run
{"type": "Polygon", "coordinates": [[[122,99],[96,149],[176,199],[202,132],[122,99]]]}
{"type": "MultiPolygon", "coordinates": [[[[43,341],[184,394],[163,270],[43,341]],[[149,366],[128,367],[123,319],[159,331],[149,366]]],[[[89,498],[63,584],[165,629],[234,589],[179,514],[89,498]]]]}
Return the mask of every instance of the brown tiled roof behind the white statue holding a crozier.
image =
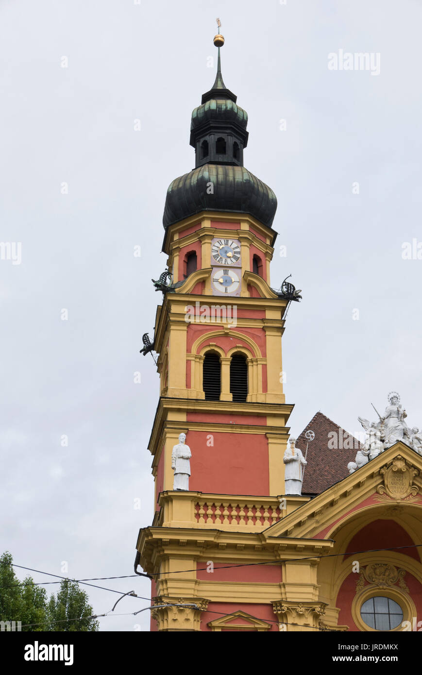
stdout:
{"type": "Polygon", "coordinates": [[[338,483],[348,476],[348,462],[354,462],[360,444],[340,425],[330,420],[322,412],[317,412],[296,441],[296,447],[302,450],[304,457],[307,448],[305,433],[308,429],[312,429],[315,433],[315,439],[310,441],[308,446],[308,463],[305,467],[302,495],[319,495],[334,483],[338,483]],[[329,436],[328,434],[333,431],[336,436],[329,436]],[[337,449],[332,448],[332,439],[338,439],[337,449]],[[352,444],[352,449],[342,447],[343,444],[352,444]]]}

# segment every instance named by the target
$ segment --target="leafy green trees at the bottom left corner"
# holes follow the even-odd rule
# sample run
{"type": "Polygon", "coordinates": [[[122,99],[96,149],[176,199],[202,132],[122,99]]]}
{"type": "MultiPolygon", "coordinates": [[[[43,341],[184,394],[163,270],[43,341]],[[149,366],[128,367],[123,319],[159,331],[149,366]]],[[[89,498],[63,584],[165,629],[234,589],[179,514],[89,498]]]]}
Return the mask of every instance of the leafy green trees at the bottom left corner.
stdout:
{"type": "Polygon", "coordinates": [[[20,621],[22,630],[30,632],[98,630],[98,621],[89,618],[92,615],[88,595],[76,581],[63,579],[57,597],[53,593],[48,599],[32,576],[18,579],[9,551],[0,556],[0,621],[20,621]]]}

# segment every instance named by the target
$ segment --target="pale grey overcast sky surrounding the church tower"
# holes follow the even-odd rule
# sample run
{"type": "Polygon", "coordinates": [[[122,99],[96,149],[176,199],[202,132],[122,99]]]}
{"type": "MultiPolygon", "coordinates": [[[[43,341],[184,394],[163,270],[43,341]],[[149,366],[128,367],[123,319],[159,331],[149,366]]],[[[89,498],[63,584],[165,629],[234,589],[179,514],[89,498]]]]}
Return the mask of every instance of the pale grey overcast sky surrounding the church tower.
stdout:
{"type": "MultiPolygon", "coordinates": [[[[151,524],[159,379],[138,350],[217,16],[224,82],[249,117],[244,165],[278,197],[271,285],[292,273],[302,289],[283,338],[292,433],[317,410],[356,432],[391,389],[422,426],[422,260],[402,258],[422,241],[421,4],[2,0],[0,240],[22,242],[22,261],[0,260],[0,549],[17,564],[132,574],[151,524]],[[379,74],[329,70],[339,50],[379,54],[379,74]]],[[[150,597],[142,578],[98,583],[150,597]]],[[[88,592],[98,613],[118,597],[88,592]]],[[[149,612],[101,630],[134,624],[149,630],[149,612]]]]}

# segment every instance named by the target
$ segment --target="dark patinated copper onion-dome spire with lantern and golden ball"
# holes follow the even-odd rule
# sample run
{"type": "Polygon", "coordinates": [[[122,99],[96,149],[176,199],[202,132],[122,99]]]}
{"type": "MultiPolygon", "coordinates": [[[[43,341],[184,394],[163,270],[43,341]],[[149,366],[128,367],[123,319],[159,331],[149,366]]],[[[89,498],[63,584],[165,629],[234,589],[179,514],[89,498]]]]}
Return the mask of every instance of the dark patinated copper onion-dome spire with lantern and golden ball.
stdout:
{"type": "Polygon", "coordinates": [[[248,115],[223,82],[223,43],[223,36],[216,35],[215,82],[192,112],[190,145],[195,148],[195,168],[170,184],[163,215],[165,228],[201,211],[249,213],[267,227],[274,219],[275,194],[243,166],[248,115]]]}

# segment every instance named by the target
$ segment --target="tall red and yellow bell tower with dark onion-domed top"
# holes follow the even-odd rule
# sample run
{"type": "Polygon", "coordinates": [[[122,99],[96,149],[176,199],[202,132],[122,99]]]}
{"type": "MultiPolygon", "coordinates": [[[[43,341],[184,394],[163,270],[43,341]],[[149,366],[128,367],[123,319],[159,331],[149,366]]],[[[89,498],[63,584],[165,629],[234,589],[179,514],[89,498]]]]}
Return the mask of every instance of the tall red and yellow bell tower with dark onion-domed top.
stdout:
{"type": "Polygon", "coordinates": [[[153,347],[160,377],[149,441],[156,505],[136,545],[137,562],[155,579],[155,604],[168,605],[153,611],[153,630],[211,630],[203,612],[213,593],[221,604],[222,591],[184,570],[209,560],[236,563],[248,537],[286,508],[283,455],[293,406],[283,393],[282,334],[297,298],[294,288],[270,286],[277,200],[244,167],[248,118],[223,83],[223,43],[215,36],[217,76],[192,112],[195,168],[170,184],[163,215],[171,283],[161,286],[153,347]],[[192,452],[188,491],[173,489],[180,433],[192,452]],[[215,533],[225,540],[216,543],[215,533]],[[172,603],[181,598],[199,609],[180,614],[172,603]]]}

